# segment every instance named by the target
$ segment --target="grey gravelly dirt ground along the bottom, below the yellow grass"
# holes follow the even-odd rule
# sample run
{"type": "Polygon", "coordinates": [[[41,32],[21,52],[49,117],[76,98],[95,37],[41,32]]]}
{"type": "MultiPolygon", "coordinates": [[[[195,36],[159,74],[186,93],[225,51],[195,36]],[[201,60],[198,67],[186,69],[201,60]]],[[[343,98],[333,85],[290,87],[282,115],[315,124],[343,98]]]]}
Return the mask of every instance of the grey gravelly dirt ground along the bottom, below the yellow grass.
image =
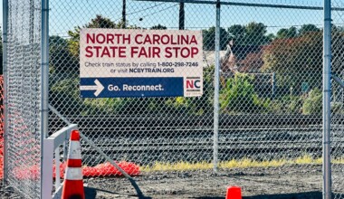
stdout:
{"type": "MultiPolygon", "coordinates": [[[[334,173],[344,180],[342,172],[334,173]]],[[[322,198],[321,166],[294,165],[270,168],[235,168],[187,172],[154,172],[136,176],[140,190],[147,198],[225,198],[228,185],[242,187],[244,198],[315,199],[322,198]]],[[[87,199],[138,198],[123,177],[84,179],[87,199]]],[[[344,198],[344,187],[335,190],[344,198]]],[[[22,198],[10,187],[2,187],[0,198],[22,198]]]]}

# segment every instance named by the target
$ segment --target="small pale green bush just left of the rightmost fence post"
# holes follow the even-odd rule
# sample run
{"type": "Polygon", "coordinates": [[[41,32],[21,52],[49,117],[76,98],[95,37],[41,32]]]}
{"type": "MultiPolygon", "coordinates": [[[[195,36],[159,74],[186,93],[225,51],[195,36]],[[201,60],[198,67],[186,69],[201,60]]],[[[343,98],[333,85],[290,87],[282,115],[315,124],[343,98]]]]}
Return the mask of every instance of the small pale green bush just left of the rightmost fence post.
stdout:
{"type": "Polygon", "coordinates": [[[322,93],[320,89],[313,89],[302,105],[302,113],[306,115],[320,115],[322,111],[322,93]]]}

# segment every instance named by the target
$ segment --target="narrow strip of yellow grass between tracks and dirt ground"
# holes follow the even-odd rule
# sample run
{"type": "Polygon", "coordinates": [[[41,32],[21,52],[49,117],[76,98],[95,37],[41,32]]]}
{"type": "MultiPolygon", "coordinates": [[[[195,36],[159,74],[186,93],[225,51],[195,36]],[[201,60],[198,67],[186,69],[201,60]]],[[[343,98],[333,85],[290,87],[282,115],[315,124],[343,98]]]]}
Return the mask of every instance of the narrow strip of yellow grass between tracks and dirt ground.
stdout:
{"type": "MultiPolygon", "coordinates": [[[[333,164],[344,164],[344,157],[334,159],[331,161],[333,164]]],[[[248,167],[277,167],[284,165],[321,165],[322,157],[313,158],[310,155],[304,155],[295,159],[277,159],[277,160],[264,160],[256,161],[250,158],[232,159],[228,161],[219,162],[219,168],[248,168],[248,167]]],[[[213,163],[209,162],[177,162],[165,163],[156,162],[151,166],[140,166],[141,171],[187,171],[187,170],[207,170],[212,169],[213,163]]]]}

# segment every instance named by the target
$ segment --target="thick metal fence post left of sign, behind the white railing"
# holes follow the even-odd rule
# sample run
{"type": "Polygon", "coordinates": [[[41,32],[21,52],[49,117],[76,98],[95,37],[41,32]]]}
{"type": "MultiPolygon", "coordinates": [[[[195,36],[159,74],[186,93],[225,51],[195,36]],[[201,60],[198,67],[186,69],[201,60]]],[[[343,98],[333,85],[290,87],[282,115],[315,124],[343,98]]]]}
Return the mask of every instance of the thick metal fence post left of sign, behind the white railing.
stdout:
{"type": "Polygon", "coordinates": [[[43,140],[48,134],[49,114],[49,0],[42,0],[41,38],[41,198],[43,198],[43,140]]]}

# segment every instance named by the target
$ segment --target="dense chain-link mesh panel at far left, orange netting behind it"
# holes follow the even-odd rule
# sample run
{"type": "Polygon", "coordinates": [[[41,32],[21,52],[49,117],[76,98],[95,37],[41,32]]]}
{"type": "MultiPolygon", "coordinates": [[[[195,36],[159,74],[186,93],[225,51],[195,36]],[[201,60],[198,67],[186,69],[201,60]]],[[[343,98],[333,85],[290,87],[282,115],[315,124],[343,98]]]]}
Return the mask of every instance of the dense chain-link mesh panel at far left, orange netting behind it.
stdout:
{"type": "Polygon", "coordinates": [[[8,2],[8,182],[26,198],[40,197],[41,1],[8,2]]]}

